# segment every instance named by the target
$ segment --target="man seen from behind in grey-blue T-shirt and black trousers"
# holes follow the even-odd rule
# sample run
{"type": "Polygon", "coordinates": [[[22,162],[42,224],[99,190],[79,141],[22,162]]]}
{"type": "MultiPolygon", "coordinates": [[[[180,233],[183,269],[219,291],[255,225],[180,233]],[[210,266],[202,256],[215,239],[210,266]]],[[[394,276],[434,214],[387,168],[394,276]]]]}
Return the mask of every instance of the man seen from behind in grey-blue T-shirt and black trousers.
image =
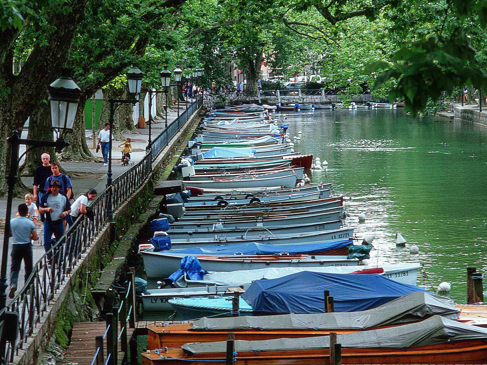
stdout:
{"type": "Polygon", "coordinates": [[[12,237],[12,263],[10,265],[10,287],[8,289],[9,298],[15,296],[17,283],[19,281],[20,264],[24,260],[24,282],[27,281],[32,273],[32,244],[31,239],[37,241],[36,225],[27,219],[27,205],[19,205],[19,217],[10,221],[10,237],[12,237]]]}

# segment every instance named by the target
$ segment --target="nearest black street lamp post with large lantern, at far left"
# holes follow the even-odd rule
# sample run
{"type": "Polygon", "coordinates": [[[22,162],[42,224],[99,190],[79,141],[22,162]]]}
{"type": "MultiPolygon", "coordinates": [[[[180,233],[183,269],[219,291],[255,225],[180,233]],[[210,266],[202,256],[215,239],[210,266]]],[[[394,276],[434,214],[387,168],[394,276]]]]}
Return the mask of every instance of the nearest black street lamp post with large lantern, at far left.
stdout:
{"type": "MultiPolygon", "coordinates": [[[[57,140],[53,142],[21,139],[17,130],[14,130],[12,136],[7,139],[7,142],[12,146],[12,156],[10,160],[10,173],[7,176],[8,195],[0,273],[0,311],[6,307],[7,303],[7,260],[10,216],[12,214],[12,200],[14,198],[14,187],[17,181],[19,161],[28,151],[37,147],[55,147],[56,152],[61,152],[64,147],[69,146],[69,143],[64,141],[63,134],[73,129],[81,89],[70,77],[70,70],[62,69],[61,76],[47,87],[47,92],[51,106],[51,127],[56,131],[57,140]],[[30,148],[27,148],[19,158],[20,145],[30,146],[30,148]]],[[[4,328],[4,331],[17,331],[17,326],[15,328],[4,328]]],[[[1,347],[3,354],[3,344],[1,347]]]]}

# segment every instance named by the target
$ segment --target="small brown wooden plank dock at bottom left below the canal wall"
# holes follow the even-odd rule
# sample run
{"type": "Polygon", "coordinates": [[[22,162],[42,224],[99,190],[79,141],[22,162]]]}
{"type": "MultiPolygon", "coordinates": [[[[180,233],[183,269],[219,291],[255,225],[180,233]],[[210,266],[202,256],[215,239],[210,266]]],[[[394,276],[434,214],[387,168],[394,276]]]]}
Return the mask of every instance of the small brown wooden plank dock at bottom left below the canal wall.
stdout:
{"type": "MultiPolygon", "coordinates": [[[[96,352],[95,337],[100,335],[103,336],[106,329],[107,324],[105,322],[75,323],[73,326],[73,334],[71,335],[71,344],[66,349],[64,359],[62,361],[59,361],[58,364],[91,365],[94,354],[96,352]]],[[[129,339],[131,338],[133,331],[134,329],[128,329],[127,337],[129,339]]],[[[104,347],[106,359],[106,342],[104,347]]],[[[120,348],[120,341],[118,342],[118,359],[119,363],[121,363],[123,359],[123,352],[120,348]]]]}

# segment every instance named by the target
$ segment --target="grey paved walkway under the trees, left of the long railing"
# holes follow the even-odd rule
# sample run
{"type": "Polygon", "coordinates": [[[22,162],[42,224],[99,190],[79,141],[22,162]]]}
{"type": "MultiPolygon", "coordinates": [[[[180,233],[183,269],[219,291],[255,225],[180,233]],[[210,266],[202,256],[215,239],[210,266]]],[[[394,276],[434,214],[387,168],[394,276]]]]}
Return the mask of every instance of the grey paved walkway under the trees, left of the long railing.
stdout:
{"type": "MultiPolygon", "coordinates": [[[[185,104],[180,104],[180,109],[179,112],[180,114],[186,109],[185,104]]],[[[173,120],[177,118],[177,110],[168,110],[168,124],[170,124],[173,120]]],[[[154,140],[165,128],[165,121],[164,119],[156,119],[154,123],[152,123],[152,133],[151,133],[151,139],[154,140]]],[[[130,137],[132,140],[132,153],[131,153],[131,161],[134,163],[139,162],[142,160],[142,158],[146,154],[146,147],[149,139],[149,127],[146,123],[146,128],[138,129],[141,134],[132,134],[132,133],[127,133],[124,134],[125,137],[130,137]]],[[[96,133],[96,135],[98,135],[96,133]]],[[[87,130],[86,131],[86,136],[87,136],[87,143],[88,147],[92,147],[92,130],[87,130]],[[89,139],[89,140],[88,140],[89,139]]],[[[27,131],[24,131],[22,133],[22,138],[27,137],[27,131]],[[23,135],[25,133],[25,136],[23,135]]],[[[124,171],[126,171],[128,168],[130,168],[131,165],[129,166],[122,166],[120,165],[121,162],[121,148],[118,147],[118,145],[122,141],[114,141],[113,146],[112,146],[112,178],[114,179],[115,177],[121,175],[124,171]]],[[[25,148],[23,149],[25,150],[25,148]]],[[[95,156],[100,157],[100,163],[83,163],[83,162],[63,162],[61,163],[62,167],[65,168],[67,171],[75,171],[77,173],[86,173],[86,176],[82,178],[74,178],[71,179],[73,183],[73,192],[75,194],[75,197],[77,198],[81,194],[84,194],[87,192],[89,189],[94,188],[98,191],[98,193],[101,193],[103,190],[106,188],[106,183],[107,183],[107,172],[108,172],[108,167],[103,166],[103,157],[101,154],[101,150],[98,153],[95,153],[94,150],[92,150],[93,154],[95,156]]],[[[23,153],[22,150],[20,150],[20,154],[23,153]]],[[[69,174],[68,174],[69,176],[69,174]]],[[[22,182],[27,185],[27,186],[32,186],[32,177],[22,177],[22,182]]],[[[19,204],[23,203],[23,199],[14,199],[12,202],[12,211],[14,212],[12,214],[12,218],[15,216],[15,213],[17,212],[17,207],[19,204]]],[[[73,202],[73,201],[71,201],[73,202]]],[[[6,211],[6,198],[0,198],[0,219],[2,220],[0,222],[0,232],[3,233],[3,220],[5,219],[5,211],[6,211]]],[[[43,255],[44,255],[44,247],[42,245],[43,242],[43,228],[42,228],[42,223],[40,220],[37,222],[37,234],[39,236],[39,241],[34,243],[33,246],[33,251],[34,251],[34,263],[36,263],[43,255]]],[[[3,247],[3,237],[1,237],[1,242],[2,242],[2,247],[3,247]]],[[[7,277],[10,282],[10,252],[12,252],[12,245],[9,245],[9,263],[8,263],[8,269],[7,269],[7,277]]],[[[24,285],[24,268],[23,268],[23,263],[20,269],[19,273],[19,285],[18,289],[21,289],[24,285]]],[[[10,302],[10,299],[7,299],[7,304],[10,302]]]]}

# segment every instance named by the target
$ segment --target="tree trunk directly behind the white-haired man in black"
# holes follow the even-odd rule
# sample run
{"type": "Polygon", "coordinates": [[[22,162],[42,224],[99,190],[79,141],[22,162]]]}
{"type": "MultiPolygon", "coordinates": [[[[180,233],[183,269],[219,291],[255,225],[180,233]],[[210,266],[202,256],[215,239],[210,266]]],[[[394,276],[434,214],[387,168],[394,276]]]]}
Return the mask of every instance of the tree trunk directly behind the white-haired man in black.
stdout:
{"type": "MultiPolygon", "coordinates": [[[[51,129],[51,111],[47,104],[41,103],[31,114],[27,139],[54,141],[53,130],[51,129]]],[[[48,153],[51,156],[51,162],[58,163],[54,147],[35,148],[25,155],[25,161],[19,168],[20,175],[34,176],[34,170],[38,165],[42,164],[40,156],[43,153],[48,153]]],[[[67,171],[61,167],[61,173],[66,174],[67,171]]]]}

